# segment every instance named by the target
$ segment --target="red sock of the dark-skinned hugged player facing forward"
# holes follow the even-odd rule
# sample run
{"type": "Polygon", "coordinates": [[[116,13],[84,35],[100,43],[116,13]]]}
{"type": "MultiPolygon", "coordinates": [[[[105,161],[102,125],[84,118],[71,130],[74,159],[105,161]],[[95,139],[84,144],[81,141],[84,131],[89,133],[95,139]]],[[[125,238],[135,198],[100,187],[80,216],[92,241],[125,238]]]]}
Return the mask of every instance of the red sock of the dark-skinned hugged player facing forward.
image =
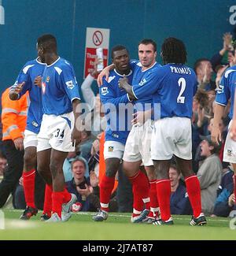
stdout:
{"type": "Polygon", "coordinates": [[[100,205],[101,210],[109,211],[109,202],[112,195],[112,189],[115,184],[115,177],[103,176],[100,184],[100,205]]]}

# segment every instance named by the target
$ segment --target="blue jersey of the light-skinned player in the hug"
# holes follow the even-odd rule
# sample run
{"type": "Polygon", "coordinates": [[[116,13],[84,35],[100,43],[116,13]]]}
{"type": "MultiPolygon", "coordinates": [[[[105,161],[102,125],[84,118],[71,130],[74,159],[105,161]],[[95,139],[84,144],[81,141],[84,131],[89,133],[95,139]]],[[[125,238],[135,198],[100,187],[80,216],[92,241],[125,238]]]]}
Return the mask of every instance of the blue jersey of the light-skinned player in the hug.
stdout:
{"type": "MultiPolygon", "coordinates": [[[[142,87],[146,84],[147,87],[153,87],[153,81],[157,76],[158,69],[161,65],[155,62],[149,69],[142,71],[142,65],[139,61],[132,61],[131,63],[132,70],[134,72],[132,85],[133,89],[137,87],[142,87]],[[134,65],[135,64],[135,65],[134,65]]],[[[135,101],[135,109],[137,111],[146,111],[152,107],[153,95],[149,94],[149,91],[146,91],[145,94],[138,97],[135,101]]]]}

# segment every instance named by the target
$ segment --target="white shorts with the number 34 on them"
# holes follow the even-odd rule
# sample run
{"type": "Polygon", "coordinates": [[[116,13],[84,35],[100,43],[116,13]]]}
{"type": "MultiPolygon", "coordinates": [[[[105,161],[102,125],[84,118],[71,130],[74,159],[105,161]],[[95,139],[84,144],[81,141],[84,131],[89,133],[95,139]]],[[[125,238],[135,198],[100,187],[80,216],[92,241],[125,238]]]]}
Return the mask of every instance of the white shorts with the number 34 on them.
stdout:
{"type": "Polygon", "coordinates": [[[43,114],[42,124],[38,135],[37,151],[53,148],[62,152],[75,150],[72,146],[72,129],[74,114],[65,113],[60,116],[43,114]]]}

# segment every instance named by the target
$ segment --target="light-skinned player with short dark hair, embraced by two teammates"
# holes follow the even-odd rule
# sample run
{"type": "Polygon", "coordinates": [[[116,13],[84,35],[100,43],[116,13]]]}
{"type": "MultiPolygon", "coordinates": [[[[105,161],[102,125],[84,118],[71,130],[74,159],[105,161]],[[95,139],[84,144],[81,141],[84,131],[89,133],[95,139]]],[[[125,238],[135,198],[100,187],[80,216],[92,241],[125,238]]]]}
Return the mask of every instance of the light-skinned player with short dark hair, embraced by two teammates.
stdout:
{"type": "MultiPolygon", "coordinates": [[[[142,86],[144,83],[148,83],[154,86],[153,80],[154,77],[157,76],[157,70],[160,68],[160,65],[156,62],[156,57],[157,44],[152,39],[143,39],[138,44],[139,61],[131,61],[131,66],[134,72],[132,84],[139,84],[142,86]]],[[[103,76],[103,74],[106,76],[106,72],[101,72],[100,76],[103,76]]],[[[106,77],[106,80],[107,79],[108,77],[106,77]]],[[[124,80],[127,81],[127,77],[125,77],[124,80]]],[[[98,80],[98,82],[100,81],[98,80]]],[[[138,100],[136,99],[134,106],[134,121],[136,120],[136,113],[151,109],[152,102],[152,95],[146,95],[145,97],[138,98],[138,100]]],[[[158,217],[159,208],[156,195],[156,176],[149,150],[151,133],[151,120],[147,120],[143,125],[135,124],[131,128],[131,132],[128,135],[127,143],[125,145],[123,157],[124,172],[129,180],[131,180],[134,194],[134,209],[131,222],[141,222],[144,221],[144,219],[150,222],[158,217]],[[141,164],[143,164],[146,169],[149,183],[145,174],[139,171],[141,164]],[[142,211],[143,203],[146,204],[146,210],[142,211]],[[151,211],[149,212],[149,210],[151,211]],[[149,216],[146,218],[148,213],[149,216]]]]}

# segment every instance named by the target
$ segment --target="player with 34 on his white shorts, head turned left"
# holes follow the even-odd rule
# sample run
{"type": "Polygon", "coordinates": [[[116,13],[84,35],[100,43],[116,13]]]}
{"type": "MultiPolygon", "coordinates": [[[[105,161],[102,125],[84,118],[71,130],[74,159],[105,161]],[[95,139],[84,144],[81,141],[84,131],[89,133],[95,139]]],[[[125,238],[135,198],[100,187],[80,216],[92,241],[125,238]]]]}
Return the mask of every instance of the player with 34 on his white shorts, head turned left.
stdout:
{"type": "Polygon", "coordinates": [[[72,143],[81,139],[79,87],[72,65],[57,54],[57,40],[42,35],[37,40],[39,58],[46,63],[42,74],[42,124],[38,135],[38,171],[52,184],[53,214],[49,222],[67,221],[76,195],[65,189],[62,165],[72,143]],[[48,172],[50,166],[50,173],[48,172]]]}

